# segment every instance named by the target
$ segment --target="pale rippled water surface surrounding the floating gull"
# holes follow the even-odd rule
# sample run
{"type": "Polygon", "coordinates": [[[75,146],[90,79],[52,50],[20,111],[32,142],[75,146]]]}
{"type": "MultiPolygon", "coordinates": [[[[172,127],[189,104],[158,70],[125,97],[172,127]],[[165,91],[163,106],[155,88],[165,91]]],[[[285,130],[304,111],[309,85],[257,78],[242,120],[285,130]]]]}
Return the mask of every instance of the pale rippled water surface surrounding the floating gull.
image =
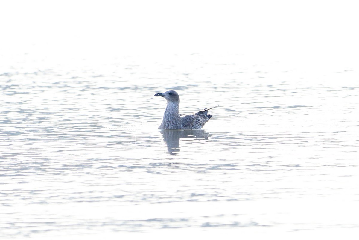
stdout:
{"type": "Polygon", "coordinates": [[[0,74],[1,239],[358,233],[358,69],[32,57],[0,74]],[[219,107],[158,130],[170,89],[219,107]]]}

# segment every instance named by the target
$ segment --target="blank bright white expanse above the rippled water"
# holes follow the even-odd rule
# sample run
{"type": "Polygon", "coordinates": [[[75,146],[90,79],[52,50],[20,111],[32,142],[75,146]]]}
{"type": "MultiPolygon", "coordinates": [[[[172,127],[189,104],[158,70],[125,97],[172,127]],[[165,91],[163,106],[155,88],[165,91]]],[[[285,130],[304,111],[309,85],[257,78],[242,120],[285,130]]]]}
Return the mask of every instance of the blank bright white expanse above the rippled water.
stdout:
{"type": "Polygon", "coordinates": [[[310,52],[349,57],[358,53],[356,4],[1,1],[1,51],[310,52]]]}

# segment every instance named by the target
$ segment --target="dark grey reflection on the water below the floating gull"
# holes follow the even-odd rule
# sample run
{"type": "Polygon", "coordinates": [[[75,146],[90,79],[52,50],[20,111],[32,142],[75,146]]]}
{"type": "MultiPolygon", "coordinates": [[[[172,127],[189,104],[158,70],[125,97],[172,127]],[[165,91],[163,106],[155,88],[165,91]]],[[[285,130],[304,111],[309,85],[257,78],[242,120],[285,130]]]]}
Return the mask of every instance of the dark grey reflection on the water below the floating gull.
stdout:
{"type": "Polygon", "coordinates": [[[209,134],[205,130],[161,130],[164,142],[167,144],[168,153],[176,155],[180,152],[180,139],[190,138],[194,140],[208,140],[209,134]]]}

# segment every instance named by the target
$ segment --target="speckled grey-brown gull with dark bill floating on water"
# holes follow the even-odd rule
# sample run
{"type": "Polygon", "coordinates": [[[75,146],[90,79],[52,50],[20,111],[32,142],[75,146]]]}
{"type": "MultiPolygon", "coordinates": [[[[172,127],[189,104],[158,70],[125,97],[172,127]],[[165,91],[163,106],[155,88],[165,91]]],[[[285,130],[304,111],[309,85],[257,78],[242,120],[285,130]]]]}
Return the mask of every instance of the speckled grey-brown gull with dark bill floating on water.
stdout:
{"type": "Polygon", "coordinates": [[[193,114],[180,115],[178,112],[180,96],[178,96],[176,91],[171,90],[164,93],[156,93],[155,97],[164,97],[167,100],[163,120],[158,129],[201,129],[213,117],[208,114],[208,110],[214,107],[193,114]]]}

